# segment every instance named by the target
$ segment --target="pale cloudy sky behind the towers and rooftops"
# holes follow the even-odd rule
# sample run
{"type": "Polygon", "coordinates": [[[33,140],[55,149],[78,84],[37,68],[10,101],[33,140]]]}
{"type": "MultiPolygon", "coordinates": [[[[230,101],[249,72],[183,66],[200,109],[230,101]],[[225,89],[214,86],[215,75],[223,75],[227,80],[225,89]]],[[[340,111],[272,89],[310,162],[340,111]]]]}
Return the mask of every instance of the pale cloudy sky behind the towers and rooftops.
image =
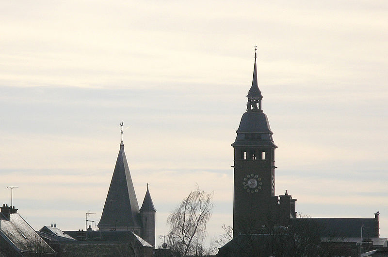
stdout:
{"type": "Polygon", "coordinates": [[[197,186],[232,225],[233,148],[258,45],[275,194],[311,217],[380,214],[388,237],[388,3],[1,1],[0,201],[35,229],[97,224],[124,122],[156,238],[197,186]]]}

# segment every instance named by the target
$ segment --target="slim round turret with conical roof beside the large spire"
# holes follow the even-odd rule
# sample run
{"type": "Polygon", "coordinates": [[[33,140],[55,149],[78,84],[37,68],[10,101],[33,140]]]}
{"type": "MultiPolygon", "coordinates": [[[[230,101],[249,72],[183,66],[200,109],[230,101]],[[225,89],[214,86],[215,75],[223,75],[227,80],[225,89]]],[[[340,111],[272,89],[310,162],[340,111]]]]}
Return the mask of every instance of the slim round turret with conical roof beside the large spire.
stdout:
{"type": "Polygon", "coordinates": [[[140,208],[140,217],[143,224],[142,238],[152,244],[155,248],[156,210],[154,203],[152,202],[151,194],[148,190],[148,183],[146,196],[144,197],[142,208],[140,208]]]}

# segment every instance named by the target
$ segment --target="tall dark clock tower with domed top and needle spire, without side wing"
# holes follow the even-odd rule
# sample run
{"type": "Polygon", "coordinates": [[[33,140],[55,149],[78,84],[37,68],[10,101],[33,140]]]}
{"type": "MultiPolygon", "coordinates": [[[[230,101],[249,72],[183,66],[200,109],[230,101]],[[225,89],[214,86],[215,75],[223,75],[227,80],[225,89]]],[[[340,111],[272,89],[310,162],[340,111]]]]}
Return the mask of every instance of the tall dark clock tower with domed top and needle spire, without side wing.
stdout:
{"type": "Polygon", "coordinates": [[[276,215],[275,148],[267,116],[262,111],[263,96],[253,68],[252,86],[246,112],[237,129],[234,148],[233,237],[259,233],[276,215]]]}

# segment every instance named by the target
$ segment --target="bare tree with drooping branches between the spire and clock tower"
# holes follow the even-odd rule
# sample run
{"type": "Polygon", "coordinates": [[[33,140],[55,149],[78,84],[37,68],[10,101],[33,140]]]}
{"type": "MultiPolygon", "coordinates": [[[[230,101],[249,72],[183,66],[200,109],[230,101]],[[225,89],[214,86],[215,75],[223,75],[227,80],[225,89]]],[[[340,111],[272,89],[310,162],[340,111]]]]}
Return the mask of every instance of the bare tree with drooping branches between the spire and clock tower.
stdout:
{"type": "MultiPolygon", "coordinates": [[[[178,208],[167,218],[170,224],[167,244],[182,256],[203,253],[206,224],[213,209],[213,193],[197,188],[183,199],[178,208]]],[[[209,249],[207,249],[209,250],[209,249]]]]}

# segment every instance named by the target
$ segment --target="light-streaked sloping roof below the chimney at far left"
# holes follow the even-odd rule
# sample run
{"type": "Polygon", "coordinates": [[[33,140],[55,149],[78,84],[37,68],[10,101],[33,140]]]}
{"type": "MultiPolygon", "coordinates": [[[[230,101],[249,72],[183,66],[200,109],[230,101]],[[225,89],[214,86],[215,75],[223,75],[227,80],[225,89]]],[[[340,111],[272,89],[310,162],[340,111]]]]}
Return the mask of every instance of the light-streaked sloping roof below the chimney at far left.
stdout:
{"type": "Polygon", "coordinates": [[[49,244],[35,232],[19,213],[9,213],[9,219],[0,213],[0,223],[0,237],[18,253],[29,253],[39,249],[44,249],[44,252],[49,254],[54,253],[49,244]]]}

